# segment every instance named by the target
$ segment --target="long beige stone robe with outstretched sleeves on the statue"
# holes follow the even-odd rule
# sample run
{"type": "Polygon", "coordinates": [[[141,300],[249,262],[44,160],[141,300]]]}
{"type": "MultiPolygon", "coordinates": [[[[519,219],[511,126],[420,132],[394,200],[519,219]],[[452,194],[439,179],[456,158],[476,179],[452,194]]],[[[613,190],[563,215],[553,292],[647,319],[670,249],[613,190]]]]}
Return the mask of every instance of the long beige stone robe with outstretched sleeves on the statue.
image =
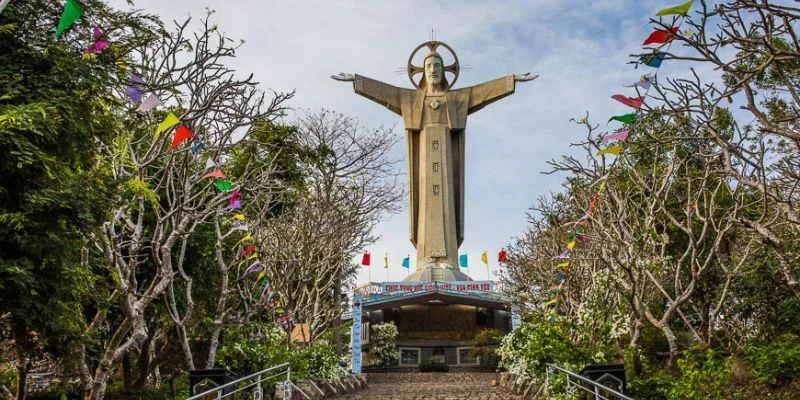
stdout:
{"type": "Polygon", "coordinates": [[[464,241],[467,115],[514,93],[514,76],[429,95],[425,89],[399,88],[356,75],[353,89],[403,118],[410,239],[417,249],[417,268],[456,266],[464,241]]]}

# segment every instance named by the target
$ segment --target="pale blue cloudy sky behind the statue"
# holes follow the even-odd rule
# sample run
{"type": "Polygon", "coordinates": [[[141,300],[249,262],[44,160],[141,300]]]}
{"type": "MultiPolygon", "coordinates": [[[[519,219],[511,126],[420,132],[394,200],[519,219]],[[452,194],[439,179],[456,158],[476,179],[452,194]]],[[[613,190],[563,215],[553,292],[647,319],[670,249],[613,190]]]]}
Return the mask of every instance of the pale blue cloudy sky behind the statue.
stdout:
{"type": "MultiPolygon", "coordinates": [[[[462,271],[486,280],[480,254],[488,251],[492,278],[500,269],[497,252],[526,229],[526,211],[539,196],[562,190],[564,175],[544,175],[546,162],[572,154],[570,143],[585,131],[570,118],[586,112],[601,129],[606,121],[630,112],[610,99],[635,96],[630,84],[648,72],[634,69],[629,54],[653,30],[656,11],[683,0],[527,0],[527,1],[378,1],[378,0],[136,0],[135,8],[164,21],[216,11],[213,22],[233,39],[243,39],[231,66],[254,73],[264,90],[296,90],[290,106],[297,111],[331,109],[350,114],[366,126],[394,127],[396,158],[404,157],[400,118],[353,93],[352,84],[330,79],[357,73],[396,86],[411,87],[405,68],[411,51],[430,39],[449,44],[462,65],[455,88],[508,74],[540,77],[519,82],[516,93],[467,120],[465,239],[459,249],[469,256],[462,271]]],[[[131,8],[112,0],[117,8],[131,8]]],[[[664,63],[659,76],[685,73],[686,66],[664,63]]],[[[286,122],[291,121],[287,117],[286,122]]],[[[576,153],[577,154],[577,153],[576,153]]],[[[405,163],[400,164],[405,173],[405,163]]],[[[386,216],[375,232],[380,239],[367,250],[372,271],[362,268],[358,281],[401,280],[404,257],[414,248],[408,239],[408,213],[386,216]]],[[[360,256],[354,262],[360,262],[360,256]]]]}

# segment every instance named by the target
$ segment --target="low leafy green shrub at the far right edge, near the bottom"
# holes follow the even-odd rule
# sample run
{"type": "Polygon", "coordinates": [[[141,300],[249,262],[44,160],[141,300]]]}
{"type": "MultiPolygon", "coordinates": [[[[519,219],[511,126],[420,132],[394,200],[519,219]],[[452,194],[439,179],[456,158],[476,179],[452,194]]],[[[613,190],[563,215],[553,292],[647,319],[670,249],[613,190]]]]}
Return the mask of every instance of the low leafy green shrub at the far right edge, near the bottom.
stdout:
{"type": "Polygon", "coordinates": [[[771,343],[748,345],[742,357],[759,383],[780,385],[800,376],[800,337],[785,334],[771,343]]]}

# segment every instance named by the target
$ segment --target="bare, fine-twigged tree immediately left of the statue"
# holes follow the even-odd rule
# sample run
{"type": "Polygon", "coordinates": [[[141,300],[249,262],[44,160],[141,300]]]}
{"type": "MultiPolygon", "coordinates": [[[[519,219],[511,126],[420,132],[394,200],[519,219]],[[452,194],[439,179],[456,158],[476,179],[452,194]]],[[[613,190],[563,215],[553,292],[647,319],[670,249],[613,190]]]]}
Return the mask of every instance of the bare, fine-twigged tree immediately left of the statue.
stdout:
{"type": "Polygon", "coordinates": [[[300,144],[315,149],[319,160],[306,166],[291,211],[256,226],[270,249],[273,288],[294,321],[308,324],[311,341],[341,313],[337,277],[353,276],[349,260],[374,242],[375,224],[399,209],[404,191],[398,160],[389,157],[397,142],[391,129],[368,129],[327,110],[307,113],[297,126],[300,144]]]}

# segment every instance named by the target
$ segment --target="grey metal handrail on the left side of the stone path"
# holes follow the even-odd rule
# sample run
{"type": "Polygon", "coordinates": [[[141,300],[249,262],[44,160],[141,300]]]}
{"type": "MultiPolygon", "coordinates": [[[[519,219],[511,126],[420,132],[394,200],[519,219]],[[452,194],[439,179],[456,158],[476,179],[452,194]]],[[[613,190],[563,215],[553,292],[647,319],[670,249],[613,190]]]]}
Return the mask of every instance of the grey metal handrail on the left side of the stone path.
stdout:
{"type": "MultiPolygon", "coordinates": [[[[300,391],[291,381],[292,367],[289,363],[283,363],[274,367],[267,368],[263,371],[256,372],[255,374],[239,378],[235,381],[228,382],[224,385],[206,390],[205,392],[198,393],[189,397],[186,400],[199,400],[199,399],[253,399],[261,400],[264,398],[264,388],[262,383],[271,381],[274,378],[286,375],[286,379],[281,381],[280,390],[283,390],[283,398],[292,398],[292,389],[297,389],[305,398],[309,398],[305,393],[300,391]]],[[[277,389],[276,389],[277,390],[277,389]]]]}

